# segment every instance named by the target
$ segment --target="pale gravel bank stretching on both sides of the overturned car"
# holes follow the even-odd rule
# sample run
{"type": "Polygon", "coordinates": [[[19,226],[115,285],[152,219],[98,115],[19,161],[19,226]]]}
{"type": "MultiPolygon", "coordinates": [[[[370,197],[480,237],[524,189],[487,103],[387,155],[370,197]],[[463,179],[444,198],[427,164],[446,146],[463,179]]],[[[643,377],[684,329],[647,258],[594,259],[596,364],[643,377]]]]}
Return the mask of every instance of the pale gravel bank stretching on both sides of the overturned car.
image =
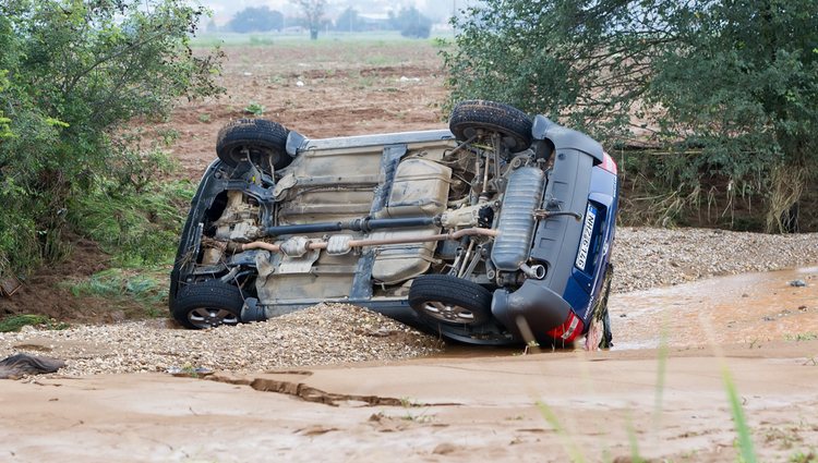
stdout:
{"type": "MultiPolygon", "coordinates": [[[[818,264],[818,233],[767,235],[701,229],[619,228],[613,249],[616,292],[709,276],[818,264]]],[[[320,304],[266,322],[193,331],[165,320],[26,327],[0,333],[0,357],[28,352],[67,361],[61,375],[208,368],[264,371],[442,352],[434,337],[364,308],[320,304]]]]}

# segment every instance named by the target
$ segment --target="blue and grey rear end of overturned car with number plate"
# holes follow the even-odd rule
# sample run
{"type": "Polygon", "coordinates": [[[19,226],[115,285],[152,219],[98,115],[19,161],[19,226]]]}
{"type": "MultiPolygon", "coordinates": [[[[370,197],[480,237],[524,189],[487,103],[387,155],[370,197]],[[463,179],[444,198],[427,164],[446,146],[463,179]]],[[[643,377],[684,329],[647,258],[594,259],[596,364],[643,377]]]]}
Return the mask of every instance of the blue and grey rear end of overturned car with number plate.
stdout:
{"type": "Polygon", "coordinates": [[[555,153],[541,208],[581,219],[540,220],[530,263],[545,266],[545,278],[528,279],[516,291],[495,291],[492,314],[518,340],[570,342],[588,330],[591,307],[603,290],[617,211],[616,174],[599,165],[579,149],[555,153]]]}

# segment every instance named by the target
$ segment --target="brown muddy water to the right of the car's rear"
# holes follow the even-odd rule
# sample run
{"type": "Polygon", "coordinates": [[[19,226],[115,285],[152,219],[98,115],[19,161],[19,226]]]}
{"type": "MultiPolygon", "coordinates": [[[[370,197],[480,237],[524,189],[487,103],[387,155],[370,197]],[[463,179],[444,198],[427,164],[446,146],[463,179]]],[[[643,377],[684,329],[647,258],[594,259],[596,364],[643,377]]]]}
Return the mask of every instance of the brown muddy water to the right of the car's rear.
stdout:
{"type": "Polygon", "coordinates": [[[673,346],[810,338],[818,336],[818,267],[613,294],[609,307],[617,350],[655,348],[663,336],[673,346]]]}

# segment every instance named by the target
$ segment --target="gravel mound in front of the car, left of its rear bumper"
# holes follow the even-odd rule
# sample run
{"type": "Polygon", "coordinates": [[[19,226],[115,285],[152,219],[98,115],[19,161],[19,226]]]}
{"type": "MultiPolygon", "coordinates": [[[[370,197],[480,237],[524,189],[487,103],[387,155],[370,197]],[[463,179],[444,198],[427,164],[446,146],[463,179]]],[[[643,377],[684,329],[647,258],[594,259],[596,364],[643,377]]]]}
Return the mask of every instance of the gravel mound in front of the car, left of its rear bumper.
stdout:
{"type": "Polygon", "coordinates": [[[165,320],[0,333],[0,356],[65,360],[62,375],[206,368],[236,373],[395,361],[440,353],[443,343],[374,312],[318,304],[275,319],[187,330],[165,320]]]}

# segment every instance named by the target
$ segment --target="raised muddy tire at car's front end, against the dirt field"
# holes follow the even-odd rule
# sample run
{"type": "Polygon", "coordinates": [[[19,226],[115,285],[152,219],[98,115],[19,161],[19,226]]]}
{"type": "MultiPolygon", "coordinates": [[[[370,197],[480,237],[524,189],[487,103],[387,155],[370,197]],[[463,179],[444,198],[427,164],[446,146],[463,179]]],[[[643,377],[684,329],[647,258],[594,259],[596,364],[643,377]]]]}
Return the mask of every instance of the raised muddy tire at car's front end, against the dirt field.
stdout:
{"type": "Polygon", "coordinates": [[[239,119],[221,127],[216,139],[216,154],[222,162],[236,167],[246,159],[265,168],[284,169],[292,162],[287,154],[289,131],[266,119],[239,119]]]}

